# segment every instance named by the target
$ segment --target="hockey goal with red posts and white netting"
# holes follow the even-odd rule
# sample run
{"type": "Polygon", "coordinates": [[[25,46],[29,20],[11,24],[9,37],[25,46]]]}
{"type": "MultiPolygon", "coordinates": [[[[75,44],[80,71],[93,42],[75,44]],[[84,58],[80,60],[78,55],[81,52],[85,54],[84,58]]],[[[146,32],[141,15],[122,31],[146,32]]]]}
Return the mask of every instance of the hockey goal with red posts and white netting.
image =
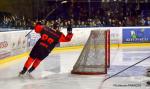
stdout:
{"type": "Polygon", "coordinates": [[[110,65],[110,31],[92,30],[72,74],[106,74],[110,65]]]}

